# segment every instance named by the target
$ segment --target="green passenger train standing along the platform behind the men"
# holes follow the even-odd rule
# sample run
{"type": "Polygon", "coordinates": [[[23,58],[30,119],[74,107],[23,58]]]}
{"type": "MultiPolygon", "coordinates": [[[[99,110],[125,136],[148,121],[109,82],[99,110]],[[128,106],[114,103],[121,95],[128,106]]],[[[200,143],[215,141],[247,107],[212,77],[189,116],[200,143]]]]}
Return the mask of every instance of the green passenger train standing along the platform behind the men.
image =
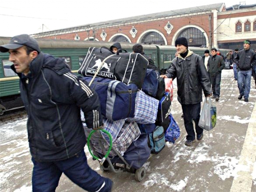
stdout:
{"type": "MultiPolygon", "coordinates": [[[[0,45],[8,44],[10,38],[0,37],[0,45]]],[[[90,41],[75,41],[75,40],[49,40],[37,39],[38,44],[44,53],[54,55],[54,57],[62,57],[70,66],[73,73],[78,74],[78,69],[86,56],[90,47],[100,48],[102,46],[110,48],[113,42],[90,42],[90,41]]],[[[134,44],[121,43],[122,49],[132,52],[134,44]]],[[[154,61],[155,65],[165,73],[170,66],[172,59],[175,57],[176,48],[174,46],[158,46],[158,45],[143,45],[144,52],[154,61]]],[[[203,56],[205,48],[192,48],[194,53],[203,56]]],[[[222,54],[229,50],[222,49],[222,54]]],[[[19,78],[10,69],[12,62],[8,60],[9,53],[0,52],[0,115],[4,111],[10,111],[22,106],[20,101],[19,78]]]]}

